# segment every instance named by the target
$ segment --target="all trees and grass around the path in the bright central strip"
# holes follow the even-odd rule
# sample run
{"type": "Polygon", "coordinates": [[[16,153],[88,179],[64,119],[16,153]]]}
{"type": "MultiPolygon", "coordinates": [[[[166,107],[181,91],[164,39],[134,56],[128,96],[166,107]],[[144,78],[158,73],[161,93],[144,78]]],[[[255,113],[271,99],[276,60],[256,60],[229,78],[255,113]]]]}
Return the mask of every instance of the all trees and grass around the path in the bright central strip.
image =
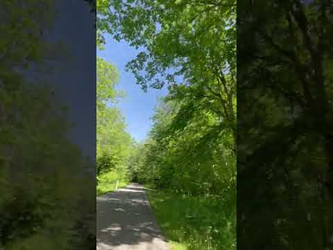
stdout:
{"type": "Polygon", "coordinates": [[[128,72],[169,93],[135,142],[97,58],[97,193],[142,183],[174,249],[236,249],[236,1],[97,1],[97,15],[99,49],[107,33],[144,48],[128,72]]]}

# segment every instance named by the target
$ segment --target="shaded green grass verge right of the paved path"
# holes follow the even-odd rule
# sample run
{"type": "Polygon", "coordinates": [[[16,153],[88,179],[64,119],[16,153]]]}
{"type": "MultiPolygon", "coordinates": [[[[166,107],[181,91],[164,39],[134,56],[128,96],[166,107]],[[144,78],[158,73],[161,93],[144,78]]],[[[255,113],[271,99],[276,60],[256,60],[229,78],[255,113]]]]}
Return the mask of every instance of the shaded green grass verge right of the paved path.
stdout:
{"type": "Polygon", "coordinates": [[[236,204],[221,197],[148,192],[157,222],[173,250],[236,249],[236,204]]]}

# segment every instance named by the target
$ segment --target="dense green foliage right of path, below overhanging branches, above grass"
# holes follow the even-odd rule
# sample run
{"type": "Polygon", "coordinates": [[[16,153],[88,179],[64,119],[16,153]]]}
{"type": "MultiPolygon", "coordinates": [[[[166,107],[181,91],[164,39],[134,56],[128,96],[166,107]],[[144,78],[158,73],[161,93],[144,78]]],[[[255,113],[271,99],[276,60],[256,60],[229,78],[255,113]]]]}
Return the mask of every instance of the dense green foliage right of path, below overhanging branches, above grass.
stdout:
{"type": "Polygon", "coordinates": [[[188,112],[193,108],[185,101],[163,101],[157,108],[150,139],[133,160],[134,178],[187,194],[222,195],[230,189],[235,195],[232,134],[223,133],[219,117],[205,110],[185,117],[184,106],[188,112]]]}

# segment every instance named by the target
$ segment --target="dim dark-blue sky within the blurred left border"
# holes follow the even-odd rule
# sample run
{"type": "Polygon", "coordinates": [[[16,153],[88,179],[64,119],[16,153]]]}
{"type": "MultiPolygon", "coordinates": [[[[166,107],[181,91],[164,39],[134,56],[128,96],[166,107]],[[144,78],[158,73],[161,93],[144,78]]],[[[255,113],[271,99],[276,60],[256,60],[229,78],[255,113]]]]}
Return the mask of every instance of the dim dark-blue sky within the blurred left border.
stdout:
{"type": "MultiPolygon", "coordinates": [[[[66,49],[56,47],[54,60],[43,72],[32,72],[33,82],[45,81],[55,92],[60,106],[69,108],[72,124],[69,139],[86,156],[96,155],[96,28],[94,15],[83,1],[56,1],[55,22],[46,41],[61,40],[66,49]],[[74,14],[75,13],[75,14],[74,14]],[[62,56],[69,56],[69,58],[62,56]]],[[[43,64],[44,65],[44,64],[43,64]]]]}

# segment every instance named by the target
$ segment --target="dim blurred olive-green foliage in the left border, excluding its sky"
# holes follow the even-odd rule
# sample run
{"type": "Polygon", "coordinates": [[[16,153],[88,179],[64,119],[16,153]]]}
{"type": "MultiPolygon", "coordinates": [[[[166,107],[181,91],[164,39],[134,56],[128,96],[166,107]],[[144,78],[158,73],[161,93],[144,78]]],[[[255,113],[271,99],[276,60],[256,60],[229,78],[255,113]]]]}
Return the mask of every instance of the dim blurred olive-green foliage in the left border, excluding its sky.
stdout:
{"type": "Polygon", "coordinates": [[[0,249],[93,249],[94,166],[69,140],[57,95],[26,77],[59,49],[43,37],[53,1],[0,5],[0,249]]]}

